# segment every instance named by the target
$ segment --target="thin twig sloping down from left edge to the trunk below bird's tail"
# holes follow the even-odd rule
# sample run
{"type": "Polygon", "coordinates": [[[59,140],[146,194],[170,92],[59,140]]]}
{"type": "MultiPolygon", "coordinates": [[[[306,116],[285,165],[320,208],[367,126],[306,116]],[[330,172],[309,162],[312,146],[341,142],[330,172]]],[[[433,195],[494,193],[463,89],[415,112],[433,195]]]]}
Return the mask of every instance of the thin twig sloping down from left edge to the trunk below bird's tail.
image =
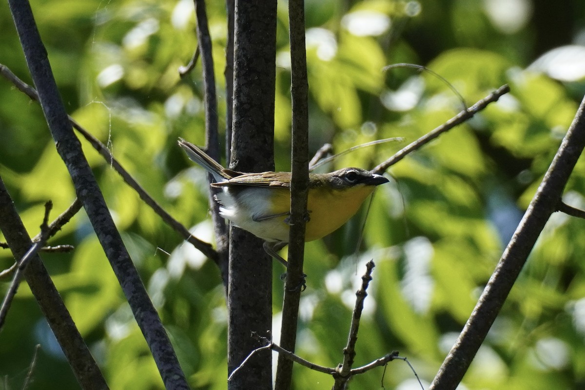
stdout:
{"type": "MultiPolygon", "coordinates": [[[[23,92],[23,94],[29,96],[30,99],[36,102],[39,101],[39,95],[37,94],[35,88],[30,87],[30,85],[20,80],[14,73],[12,73],[11,70],[9,70],[8,67],[0,64],[0,74],[2,74],[6,78],[6,80],[12,82],[16,89],[18,89],[20,92],[23,92]]],[[[99,141],[90,132],[88,132],[88,130],[86,130],[79,123],[77,123],[75,119],[71,118],[71,116],[68,115],[67,118],[71,122],[71,125],[73,125],[74,129],[80,132],[82,136],[84,136],[84,138],[91,144],[91,146],[93,146],[94,149],[97,150],[102,157],[104,157],[108,164],[110,164],[111,167],[116,172],[118,172],[118,174],[122,177],[122,180],[125,181],[126,184],[128,184],[131,188],[133,188],[140,196],[140,199],[142,199],[144,203],[149,205],[150,208],[152,208],[154,212],[157,213],[157,215],[159,215],[160,218],[167,223],[167,225],[172,227],[178,234],[181,235],[181,237],[183,237],[183,239],[191,243],[192,246],[201,251],[201,253],[205,254],[205,256],[211,258],[213,261],[215,261],[215,263],[218,262],[217,252],[212,248],[211,244],[201,241],[197,239],[197,237],[193,236],[185,226],[183,226],[169,213],[167,213],[166,210],[164,210],[159,205],[159,203],[157,203],[152,198],[152,196],[150,196],[144,190],[144,188],[142,188],[142,186],[138,184],[135,178],[133,178],[132,175],[130,175],[128,171],[126,171],[125,168],[122,167],[119,161],[112,156],[112,153],[110,153],[108,147],[106,147],[103,143],[101,143],[101,141],[99,141]]]]}

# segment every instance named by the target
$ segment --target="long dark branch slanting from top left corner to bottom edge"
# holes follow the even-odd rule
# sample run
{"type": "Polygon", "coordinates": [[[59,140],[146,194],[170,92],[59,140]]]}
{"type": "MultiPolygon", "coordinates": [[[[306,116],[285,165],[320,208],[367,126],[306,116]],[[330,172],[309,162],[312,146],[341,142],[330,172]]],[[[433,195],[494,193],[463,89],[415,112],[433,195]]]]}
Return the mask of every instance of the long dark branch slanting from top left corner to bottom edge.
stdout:
{"type": "Polygon", "coordinates": [[[167,389],[188,389],[167,333],[122,243],[104,196],[81,150],[80,141],[73,133],[30,4],[23,0],[9,0],[8,3],[57,151],[67,166],[77,196],[84,205],[140,330],[149,344],[163,382],[167,389]]]}

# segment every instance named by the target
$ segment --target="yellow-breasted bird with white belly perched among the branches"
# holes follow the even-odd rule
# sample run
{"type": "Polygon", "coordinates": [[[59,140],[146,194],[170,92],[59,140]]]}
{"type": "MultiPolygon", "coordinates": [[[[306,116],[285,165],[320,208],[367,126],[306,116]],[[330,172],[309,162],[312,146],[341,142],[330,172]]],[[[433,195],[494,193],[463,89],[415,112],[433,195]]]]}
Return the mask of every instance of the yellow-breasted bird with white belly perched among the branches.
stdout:
{"type": "MultiPolygon", "coordinates": [[[[290,223],[290,172],[245,173],[222,167],[198,146],[178,139],[190,160],[214,177],[219,215],[233,225],[264,240],[264,250],[285,267],[278,254],[288,244],[290,223]]],[[[362,168],[343,168],[329,173],[309,173],[305,241],[321,239],[339,229],[360,208],[383,175],[362,168]]]]}

